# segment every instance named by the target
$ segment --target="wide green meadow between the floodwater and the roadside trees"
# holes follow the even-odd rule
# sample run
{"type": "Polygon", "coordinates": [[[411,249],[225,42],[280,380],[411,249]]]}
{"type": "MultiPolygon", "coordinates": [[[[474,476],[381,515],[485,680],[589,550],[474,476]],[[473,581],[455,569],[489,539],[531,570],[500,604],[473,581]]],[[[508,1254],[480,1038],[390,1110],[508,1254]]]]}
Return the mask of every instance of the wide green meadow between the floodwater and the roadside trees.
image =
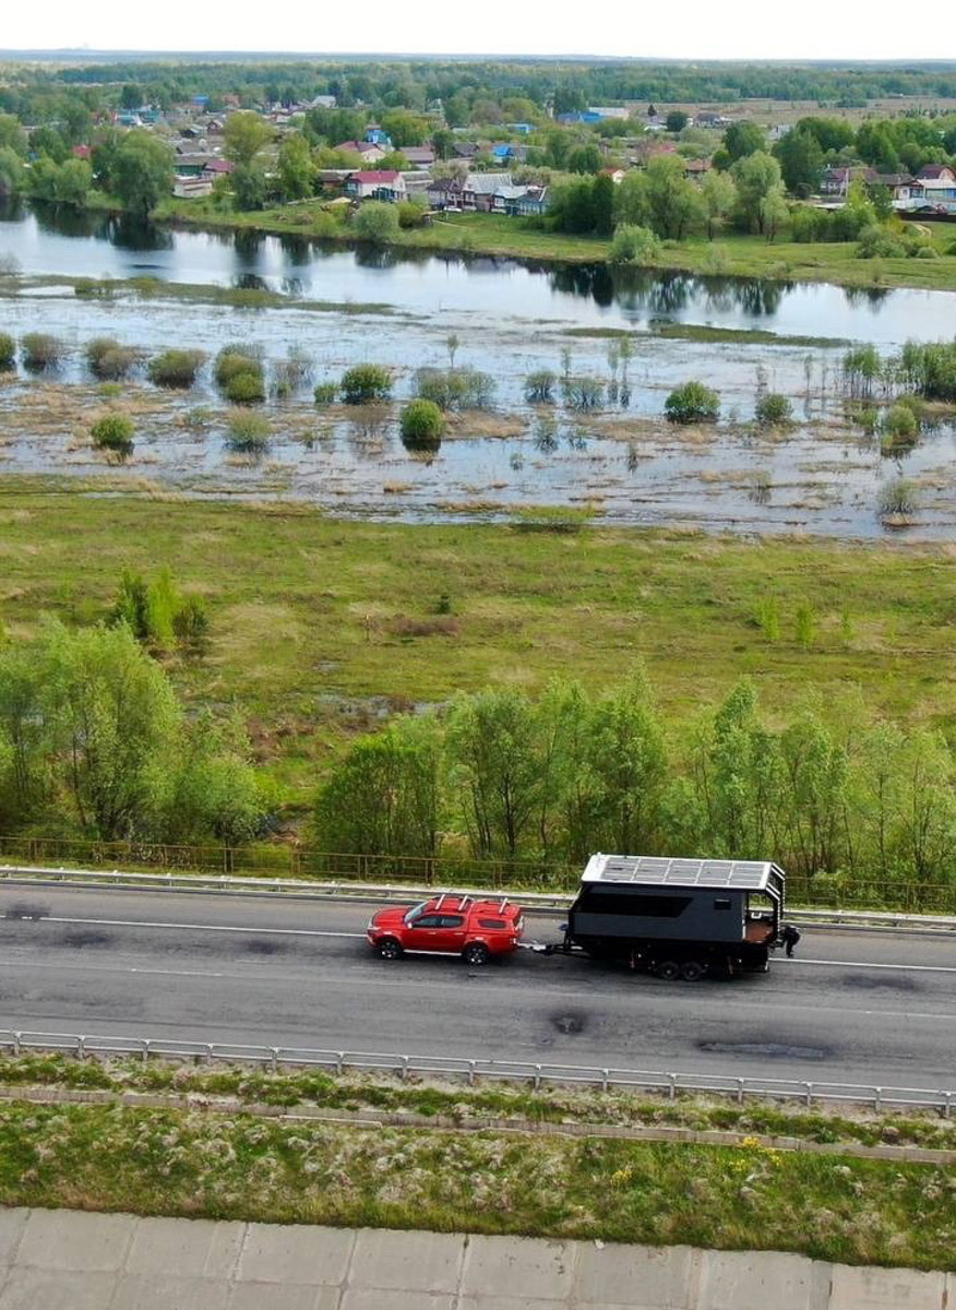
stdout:
{"type": "Polygon", "coordinates": [[[678,718],[743,675],[771,710],[808,689],[833,706],[859,686],[875,713],[902,720],[956,711],[948,546],[406,527],[185,500],[148,483],[140,496],[83,487],[4,481],[0,622],[26,635],[43,613],[94,621],[123,567],[168,565],[212,620],[210,654],[173,665],[177,681],[191,701],[249,718],[293,804],[344,738],[389,711],[486,685],[538,690],[558,675],[598,689],[638,660],[678,718]],[[756,618],[767,597],[777,641],[756,618]],[[801,604],[816,621],[809,648],[796,639],[801,604]]]}

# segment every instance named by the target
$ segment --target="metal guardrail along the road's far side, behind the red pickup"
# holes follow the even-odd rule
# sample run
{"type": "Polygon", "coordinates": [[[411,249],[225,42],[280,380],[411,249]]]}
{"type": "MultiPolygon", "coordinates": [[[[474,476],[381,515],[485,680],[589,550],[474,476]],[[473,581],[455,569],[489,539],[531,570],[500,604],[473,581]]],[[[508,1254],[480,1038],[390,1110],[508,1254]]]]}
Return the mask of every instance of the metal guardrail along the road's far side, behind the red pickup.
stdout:
{"type": "MultiPolygon", "coordinates": [[[[25,865],[0,865],[0,880],[17,882],[21,879],[110,887],[153,887],[164,891],[287,895],[317,900],[339,896],[351,900],[407,901],[435,896],[443,891],[449,895],[502,895],[500,891],[491,893],[487,888],[481,887],[436,887],[433,884],[416,887],[410,883],[310,882],[301,878],[244,878],[234,874],[182,874],[173,872],[172,870],[162,874],[151,874],[145,870],[71,869],[63,866],[43,869],[25,865]]],[[[574,899],[564,892],[515,891],[508,892],[508,895],[513,896],[515,900],[520,900],[529,909],[542,912],[566,910],[574,899]]],[[[787,917],[798,924],[820,927],[892,927],[909,931],[956,934],[956,916],[947,914],[902,914],[897,910],[801,909],[800,907],[794,907],[787,917]]]]}

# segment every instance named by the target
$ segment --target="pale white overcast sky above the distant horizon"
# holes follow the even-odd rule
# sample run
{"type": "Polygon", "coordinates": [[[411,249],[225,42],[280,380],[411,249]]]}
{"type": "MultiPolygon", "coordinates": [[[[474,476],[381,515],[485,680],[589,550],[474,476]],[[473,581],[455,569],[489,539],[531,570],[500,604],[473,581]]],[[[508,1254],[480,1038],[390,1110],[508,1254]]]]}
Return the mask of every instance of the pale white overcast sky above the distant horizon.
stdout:
{"type": "Polygon", "coordinates": [[[642,4],[580,0],[479,5],[449,0],[365,0],[358,8],[285,0],[270,9],[253,0],[7,0],[0,25],[5,50],[257,50],[308,54],[529,54],[648,59],[951,59],[956,60],[956,4],[925,0],[917,21],[875,0],[682,0],[642,4]]]}

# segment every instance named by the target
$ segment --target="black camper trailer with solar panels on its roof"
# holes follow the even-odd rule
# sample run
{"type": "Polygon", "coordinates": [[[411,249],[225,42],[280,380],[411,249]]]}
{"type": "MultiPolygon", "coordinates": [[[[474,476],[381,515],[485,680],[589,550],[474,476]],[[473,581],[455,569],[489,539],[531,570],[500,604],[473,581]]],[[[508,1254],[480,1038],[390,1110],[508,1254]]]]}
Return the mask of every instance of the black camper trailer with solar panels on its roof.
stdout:
{"type": "Polygon", "coordinates": [[[689,982],[766,972],[782,941],[784,880],[770,862],[592,855],[563,948],[689,982]]]}

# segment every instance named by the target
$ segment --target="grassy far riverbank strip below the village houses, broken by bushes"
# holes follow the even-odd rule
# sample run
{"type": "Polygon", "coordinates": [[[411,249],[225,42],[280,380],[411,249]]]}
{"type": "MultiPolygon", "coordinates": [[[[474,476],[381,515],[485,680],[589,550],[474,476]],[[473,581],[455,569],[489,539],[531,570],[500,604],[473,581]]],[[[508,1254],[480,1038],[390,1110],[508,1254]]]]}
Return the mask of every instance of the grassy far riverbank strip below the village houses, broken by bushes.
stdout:
{"type": "MultiPolygon", "coordinates": [[[[262,232],[333,240],[358,245],[321,203],[287,204],[255,212],[216,208],[208,200],[166,200],[158,223],[204,231],[262,232]],[[337,231],[338,228],[338,231],[337,231]]],[[[956,242],[956,225],[927,224],[936,259],[858,259],[855,242],[807,244],[724,233],[716,241],[667,241],[648,267],[735,278],[824,282],[841,287],[914,287],[956,291],[956,255],[944,254],[956,242]]],[[[542,232],[528,219],[491,214],[444,215],[431,227],[399,229],[390,242],[401,250],[495,255],[550,263],[605,263],[610,241],[601,237],[542,232]]]]}

